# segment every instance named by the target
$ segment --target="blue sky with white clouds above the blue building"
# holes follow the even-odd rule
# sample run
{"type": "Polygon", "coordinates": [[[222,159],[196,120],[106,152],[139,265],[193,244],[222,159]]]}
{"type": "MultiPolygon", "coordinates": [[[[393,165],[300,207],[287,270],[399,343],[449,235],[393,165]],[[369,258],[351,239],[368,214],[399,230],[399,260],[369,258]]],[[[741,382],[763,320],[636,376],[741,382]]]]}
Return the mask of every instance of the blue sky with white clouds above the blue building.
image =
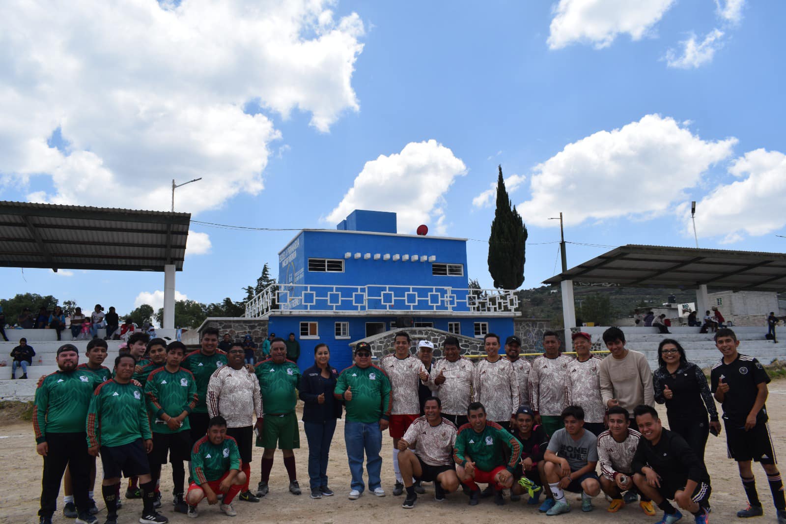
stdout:
{"type": "MultiPolygon", "coordinates": [[[[501,164],[530,235],[524,287],[553,275],[558,246],[543,242],[560,211],[566,239],[593,244],[568,245],[569,266],[601,245],[694,245],[692,200],[702,247],[784,249],[784,2],[11,2],[0,15],[2,200],[166,210],[171,179],[202,176],[178,190],[193,220],[334,227],[369,208],[398,212],[402,232],[483,241],[501,164]]],[[[177,289],[202,302],[241,299],[294,236],[192,231],[177,289]]],[[[468,256],[490,286],[487,244],[468,256]]],[[[0,276],[6,296],[119,312],[163,296],[159,274],[0,276]]]]}

